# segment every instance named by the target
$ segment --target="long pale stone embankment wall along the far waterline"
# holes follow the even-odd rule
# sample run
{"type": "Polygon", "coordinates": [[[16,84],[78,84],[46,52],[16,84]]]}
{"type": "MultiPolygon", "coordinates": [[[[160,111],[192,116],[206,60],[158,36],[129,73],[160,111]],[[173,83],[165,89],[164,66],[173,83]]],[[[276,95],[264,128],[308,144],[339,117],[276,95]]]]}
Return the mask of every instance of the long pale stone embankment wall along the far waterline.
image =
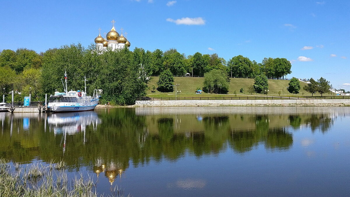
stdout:
{"type": "Polygon", "coordinates": [[[285,100],[137,100],[135,106],[350,106],[350,99],[285,99],[285,100]]]}

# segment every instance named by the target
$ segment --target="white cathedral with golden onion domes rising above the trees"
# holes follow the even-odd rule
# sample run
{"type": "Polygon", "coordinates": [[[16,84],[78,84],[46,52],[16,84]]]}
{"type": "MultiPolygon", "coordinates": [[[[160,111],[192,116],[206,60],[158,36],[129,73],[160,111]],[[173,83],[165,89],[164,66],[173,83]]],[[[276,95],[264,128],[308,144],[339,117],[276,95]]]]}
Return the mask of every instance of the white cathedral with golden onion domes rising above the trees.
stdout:
{"type": "MultiPolygon", "coordinates": [[[[129,48],[130,42],[123,36],[123,28],[121,28],[121,35],[114,28],[114,23],[116,21],[112,20],[112,29],[105,35],[105,38],[101,36],[101,28],[99,28],[98,36],[95,38],[96,48],[100,51],[105,51],[107,48],[112,50],[123,49],[124,47],[129,48]]],[[[127,34],[125,32],[125,34],[127,34]]]]}

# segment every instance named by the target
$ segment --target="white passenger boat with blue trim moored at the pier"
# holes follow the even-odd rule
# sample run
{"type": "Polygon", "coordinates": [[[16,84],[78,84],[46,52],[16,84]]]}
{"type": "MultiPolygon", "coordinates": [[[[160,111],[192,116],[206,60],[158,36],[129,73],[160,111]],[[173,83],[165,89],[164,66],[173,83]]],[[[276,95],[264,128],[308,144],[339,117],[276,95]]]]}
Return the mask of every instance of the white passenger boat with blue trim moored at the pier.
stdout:
{"type": "MultiPolygon", "coordinates": [[[[74,112],[94,110],[99,102],[102,90],[94,90],[93,96],[87,96],[86,83],[85,92],[67,91],[67,75],[65,74],[65,92],[55,92],[50,96],[48,108],[51,112],[74,112]]],[[[85,79],[86,82],[86,79],[85,79]]],[[[63,81],[62,81],[63,83],[63,81]]]]}

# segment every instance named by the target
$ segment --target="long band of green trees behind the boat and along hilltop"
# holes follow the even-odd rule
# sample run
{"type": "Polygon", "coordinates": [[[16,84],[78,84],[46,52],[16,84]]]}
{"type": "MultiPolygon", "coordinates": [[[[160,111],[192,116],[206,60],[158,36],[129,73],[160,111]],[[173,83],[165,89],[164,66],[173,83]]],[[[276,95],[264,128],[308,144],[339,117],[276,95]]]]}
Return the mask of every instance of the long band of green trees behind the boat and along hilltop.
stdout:
{"type": "MultiPolygon", "coordinates": [[[[174,76],[184,76],[187,72],[203,76],[219,70],[227,77],[244,78],[259,75],[281,78],[291,73],[291,65],[285,58],[265,58],[262,63],[257,63],[242,55],[229,61],[217,54],[200,52],[186,56],[173,48],[163,52],[136,47],[133,51],[106,51],[101,55],[95,49],[94,45],[85,48],[81,44],[71,44],[40,53],[25,48],[2,50],[0,87],[7,93],[6,100],[10,101],[8,93],[11,90],[16,91],[16,101],[23,100],[29,92],[32,100],[43,100],[45,93],[63,91],[61,79],[65,70],[69,90],[83,90],[86,76],[88,93],[91,94],[93,89],[103,89],[103,101],[120,105],[132,104],[137,97],[145,96],[147,76],[162,72],[174,76]]],[[[221,83],[226,86],[224,81],[221,83]]],[[[212,86],[211,89],[224,91],[225,87],[212,86]]]]}

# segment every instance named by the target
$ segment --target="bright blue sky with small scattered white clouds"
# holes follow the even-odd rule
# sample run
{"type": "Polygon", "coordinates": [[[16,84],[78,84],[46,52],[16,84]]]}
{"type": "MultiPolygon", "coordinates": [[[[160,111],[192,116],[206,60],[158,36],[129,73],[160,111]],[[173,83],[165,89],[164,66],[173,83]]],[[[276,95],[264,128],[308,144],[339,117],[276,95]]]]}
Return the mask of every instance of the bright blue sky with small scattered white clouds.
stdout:
{"type": "Polygon", "coordinates": [[[283,57],[292,62],[288,78],[322,76],[350,90],[349,0],[0,0],[0,6],[0,50],[88,46],[114,19],[117,30],[128,32],[131,49],[257,62],[283,57]]]}

